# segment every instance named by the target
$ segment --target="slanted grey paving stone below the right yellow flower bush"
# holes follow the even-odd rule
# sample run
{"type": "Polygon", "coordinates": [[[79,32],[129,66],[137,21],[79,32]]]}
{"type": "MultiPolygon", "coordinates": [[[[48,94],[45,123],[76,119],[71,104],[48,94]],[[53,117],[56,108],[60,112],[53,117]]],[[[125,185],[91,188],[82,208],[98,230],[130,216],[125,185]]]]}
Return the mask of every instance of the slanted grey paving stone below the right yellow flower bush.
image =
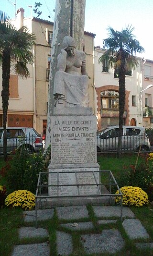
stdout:
{"type": "Polygon", "coordinates": [[[149,238],[148,233],[142,226],[142,223],[139,219],[124,219],[122,225],[125,229],[125,232],[131,239],[149,238]]]}

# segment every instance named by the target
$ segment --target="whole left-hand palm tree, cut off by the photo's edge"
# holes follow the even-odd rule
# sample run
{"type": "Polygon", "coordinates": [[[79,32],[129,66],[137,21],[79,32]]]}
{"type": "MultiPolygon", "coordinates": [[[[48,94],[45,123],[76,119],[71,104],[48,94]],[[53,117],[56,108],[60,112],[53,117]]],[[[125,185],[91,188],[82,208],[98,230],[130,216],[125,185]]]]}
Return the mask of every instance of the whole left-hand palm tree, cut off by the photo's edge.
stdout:
{"type": "Polygon", "coordinates": [[[0,65],[2,66],[2,109],[3,109],[3,153],[7,159],[7,111],[9,105],[9,81],[11,65],[14,73],[27,78],[30,73],[27,64],[33,64],[32,54],[35,37],[27,32],[26,27],[17,30],[10,22],[10,17],[0,11],[0,65]]]}

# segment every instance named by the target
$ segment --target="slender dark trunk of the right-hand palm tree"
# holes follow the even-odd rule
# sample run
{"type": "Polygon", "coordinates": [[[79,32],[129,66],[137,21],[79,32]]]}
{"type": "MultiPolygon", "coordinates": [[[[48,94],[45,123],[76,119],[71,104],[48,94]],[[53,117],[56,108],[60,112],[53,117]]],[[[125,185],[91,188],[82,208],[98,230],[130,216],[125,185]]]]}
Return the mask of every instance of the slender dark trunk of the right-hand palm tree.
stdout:
{"type": "Polygon", "coordinates": [[[119,74],[119,143],[117,156],[120,158],[121,137],[123,134],[123,114],[125,107],[125,72],[119,74]]]}

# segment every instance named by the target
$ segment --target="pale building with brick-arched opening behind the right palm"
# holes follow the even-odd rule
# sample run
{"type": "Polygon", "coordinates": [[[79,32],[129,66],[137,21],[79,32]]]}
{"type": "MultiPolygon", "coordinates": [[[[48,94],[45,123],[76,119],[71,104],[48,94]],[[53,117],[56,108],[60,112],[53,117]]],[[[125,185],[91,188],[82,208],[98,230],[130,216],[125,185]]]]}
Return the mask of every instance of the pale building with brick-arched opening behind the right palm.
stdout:
{"type": "MultiPolygon", "coordinates": [[[[97,91],[98,130],[109,125],[119,124],[119,78],[117,72],[108,66],[107,61],[99,64],[104,50],[95,48],[95,87],[97,91]]],[[[142,126],[142,106],[139,95],[142,90],[142,61],[139,66],[126,74],[124,125],[142,126]]]]}

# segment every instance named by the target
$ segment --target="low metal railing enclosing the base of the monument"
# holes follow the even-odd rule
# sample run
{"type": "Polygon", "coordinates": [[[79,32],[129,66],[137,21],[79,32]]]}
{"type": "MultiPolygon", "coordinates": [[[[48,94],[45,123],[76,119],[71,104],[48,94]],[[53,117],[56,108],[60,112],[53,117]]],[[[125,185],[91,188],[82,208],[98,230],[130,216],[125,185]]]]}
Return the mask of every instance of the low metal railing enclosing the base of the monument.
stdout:
{"type": "MultiPolygon", "coordinates": [[[[83,190],[81,190],[83,192],[83,190]]],[[[70,193],[71,194],[71,193],[70,193]]],[[[109,203],[111,204],[112,202],[112,197],[119,197],[120,198],[120,219],[122,221],[122,193],[120,191],[119,185],[116,182],[113,174],[111,171],[54,171],[54,172],[40,172],[39,173],[39,177],[38,177],[38,183],[37,183],[37,189],[36,189],[36,194],[35,194],[35,226],[37,228],[37,210],[43,207],[43,204],[45,206],[45,204],[47,205],[47,199],[58,199],[58,198],[81,198],[81,197],[90,197],[90,199],[93,198],[100,198],[100,197],[104,197],[104,196],[108,196],[109,197],[109,203]],[[68,182],[59,183],[59,174],[68,174],[71,175],[72,173],[75,174],[76,176],[76,180],[73,184],[68,184],[68,182]],[[82,183],[82,181],[79,180],[79,176],[77,174],[79,173],[92,173],[93,174],[93,178],[95,180],[95,182],[93,183],[82,183]],[[96,179],[96,173],[99,173],[99,175],[101,177],[105,176],[105,174],[108,176],[108,179],[106,179],[106,183],[98,183],[97,179],[96,179]],[[49,179],[50,179],[50,175],[55,175],[57,174],[57,180],[56,182],[54,181],[55,184],[50,184],[49,183],[49,179]],[[81,193],[79,192],[79,189],[81,187],[86,187],[86,186],[96,186],[97,187],[97,193],[96,194],[92,194],[92,193],[88,193],[85,190],[85,193],[81,193]],[[102,186],[108,186],[109,187],[109,193],[108,194],[103,194],[102,193],[102,186]],[[74,193],[72,193],[73,195],[64,195],[64,193],[58,195],[58,189],[61,187],[61,190],[64,190],[64,187],[76,187],[76,195],[74,195],[74,193]],[[115,189],[119,191],[119,194],[115,194],[112,192],[112,190],[114,191],[114,189],[112,189],[112,187],[116,187],[115,189]],[[50,188],[56,188],[56,195],[53,195],[53,193],[50,193],[50,188]],[[43,204],[42,204],[43,201],[43,204]]]]}

